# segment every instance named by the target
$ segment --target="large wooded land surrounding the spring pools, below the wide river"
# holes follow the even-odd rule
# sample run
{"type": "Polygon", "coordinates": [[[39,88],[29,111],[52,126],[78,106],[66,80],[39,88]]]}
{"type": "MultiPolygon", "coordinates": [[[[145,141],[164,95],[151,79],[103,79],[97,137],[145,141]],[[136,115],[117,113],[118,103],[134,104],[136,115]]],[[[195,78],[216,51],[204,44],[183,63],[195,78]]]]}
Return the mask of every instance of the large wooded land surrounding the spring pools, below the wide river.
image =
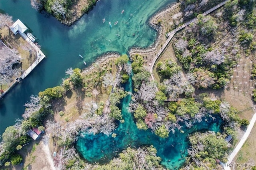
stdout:
{"type": "Polygon", "coordinates": [[[169,132],[175,132],[175,130],[182,132],[179,123],[185,123],[186,127],[192,127],[193,123],[200,122],[206,117],[211,119],[216,119],[216,116],[221,117],[225,125],[222,127],[222,133],[195,132],[189,136],[190,148],[187,150],[186,162],[182,167],[184,170],[196,168],[221,169],[221,165],[216,164],[216,159],[226,162],[227,152],[230,151],[231,147],[230,143],[225,141],[226,136],[231,135],[237,141],[238,129],[245,128],[249,122],[246,119],[241,119],[238,111],[225,99],[212,99],[202,91],[204,92],[206,89],[221,90],[226,87],[229,80],[232,79],[231,69],[237,67],[237,63],[233,61],[237,61],[242,56],[252,57],[252,54],[255,53],[255,37],[253,35],[255,35],[256,20],[251,21],[251,18],[256,17],[253,13],[256,7],[252,1],[229,1],[224,6],[228,10],[219,9],[211,14],[217,19],[223,17],[222,20],[216,21],[212,16],[200,16],[198,10],[204,9],[202,6],[207,6],[208,1],[202,2],[204,4],[195,1],[182,1],[154,15],[149,22],[155,23],[154,28],[158,32],[156,42],[146,49],[132,48],[130,50],[131,65],[127,63],[127,55],[118,57],[118,54],[110,53],[104,55],[104,57],[99,57],[95,64],[82,72],[80,69],[69,68],[66,74],[70,77],[63,80],[61,86],[48,88],[40,92],[39,97],[31,96],[31,101],[26,103],[24,120],[19,120],[14,126],[6,128],[2,136],[1,165],[10,166],[10,163],[21,162],[22,158],[16,153],[15,148],[29,142],[26,135],[29,128],[41,127],[46,129],[46,134],[51,133],[51,136],[55,136],[49,138],[48,135],[44,135],[42,137],[44,142],[51,141],[57,144],[58,149],[66,147],[62,156],[54,158],[55,166],[58,168],[106,169],[116,166],[127,168],[125,166],[128,164],[127,162],[133,162],[134,166],[140,166],[144,169],[152,167],[164,169],[160,165],[160,158],[156,156],[157,151],[153,146],[137,149],[127,148],[119,154],[118,158],[114,158],[104,165],[87,163],[78,156],[73,146],[76,137],[85,135],[85,132],[90,134],[103,132],[106,135],[112,135],[114,138],[116,137],[114,121],[124,123],[117,104],[120,103],[120,99],[131,94],[125,92],[120,86],[110,94],[110,87],[114,82],[112,77],[117,75],[118,68],[116,67],[118,66],[122,68],[119,85],[125,83],[129,79],[129,75],[134,73],[132,81],[135,93],[132,94],[129,111],[133,114],[134,121],[141,130],[151,128],[156,135],[166,138],[169,132]],[[177,12],[177,15],[172,13],[172,16],[170,16],[171,14],[168,12],[165,13],[171,8],[175,9],[173,12],[177,12]],[[246,13],[246,10],[243,10],[244,8],[251,10],[246,13]],[[168,14],[169,16],[166,16],[168,14]],[[182,24],[178,22],[179,20],[186,20],[195,15],[198,16],[199,21],[180,31],[171,42],[170,47],[173,46],[174,57],[178,58],[178,62],[168,58],[156,63],[156,73],[160,80],[159,82],[150,81],[150,74],[147,71],[148,65],[150,59],[152,60],[152,57],[160,49],[162,42],[166,40],[164,33],[170,31],[168,29],[182,24]],[[168,22],[166,22],[167,19],[165,21],[156,20],[160,16],[170,20],[168,22]],[[242,18],[239,18],[241,16],[242,18]],[[243,19],[251,22],[245,24],[246,22],[243,19]],[[227,30],[222,27],[216,28],[216,25],[222,22],[224,23],[223,26],[227,26],[227,30]],[[239,28],[246,28],[246,32],[239,28]],[[196,31],[193,31],[193,29],[196,31]],[[224,29],[224,34],[227,35],[235,31],[232,36],[236,41],[230,40],[229,45],[224,44],[225,49],[230,45],[234,47],[233,49],[228,48],[228,52],[223,52],[217,48],[218,45],[221,46],[224,43],[217,43],[220,41],[217,37],[221,36],[218,29],[224,29]],[[216,55],[216,60],[210,59],[214,55],[216,55]],[[233,59],[227,55],[236,58],[233,59]],[[108,62],[105,61],[106,59],[108,59],[108,62]],[[111,61],[111,59],[113,60],[111,61]],[[223,63],[222,68],[219,68],[223,63]],[[104,64],[105,66],[102,66],[104,64]],[[210,67],[208,64],[210,64],[210,67]],[[227,68],[225,69],[225,67],[227,68]],[[218,74],[218,71],[223,68],[224,70],[218,74]],[[209,73],[211,71],[213,74],[209,73]],[[217,71],[216,75],[214,75],[214,71],[217,71]],[[218,82],[222,78],[222,73],[228,71],[230,73],[223,77],[224,81],[218,82]],[[199,72],[208,74],[199,76],[199,72]],[[214,76],[216,76],[216,79],[214,79],[214,76]],[[204,77],[208,77],[210,80],[204,79],[204,77]],[[216,85],[218,86],[216,87],[216,85]],[[160,91],[157,91],[156,87],[160,91]],[[110,95],[110,108],[105,110],[104,104],[108,100],[108,95],[110,95]],[[166,103],[168,99],[175,98],[182,99],[178,102],[166,103]],[[78,109],[68,108],[68,105],[74,105],[78,109]],[[84,112],[84,110],[86,111],[84,112]],[[44,122],[46,117],[48,120],[44,122]],[[148,157],[145,158],[145,155],[148,157]],[[128,156],[130,156],[129,159],[127,159],[128,156]],[[140,161],[152,166],[136,164],[140,161]]]}

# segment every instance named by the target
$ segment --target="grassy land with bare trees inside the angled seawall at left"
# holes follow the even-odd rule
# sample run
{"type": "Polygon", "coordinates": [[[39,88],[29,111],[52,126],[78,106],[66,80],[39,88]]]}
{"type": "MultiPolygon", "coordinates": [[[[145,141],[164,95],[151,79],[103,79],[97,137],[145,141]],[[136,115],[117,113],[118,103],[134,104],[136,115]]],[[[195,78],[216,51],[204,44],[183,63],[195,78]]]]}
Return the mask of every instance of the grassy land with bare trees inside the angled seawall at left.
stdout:
{"type": "MultiPolygon", "coordinates": [[[[1,97],[18,81],[22,74],[36,61],[37,51],[20,34],[10,30],[12,16],[0,13],[0,83],[1,97]]],[[[40,45],[35,43],[40,49],[40,45]]]]}

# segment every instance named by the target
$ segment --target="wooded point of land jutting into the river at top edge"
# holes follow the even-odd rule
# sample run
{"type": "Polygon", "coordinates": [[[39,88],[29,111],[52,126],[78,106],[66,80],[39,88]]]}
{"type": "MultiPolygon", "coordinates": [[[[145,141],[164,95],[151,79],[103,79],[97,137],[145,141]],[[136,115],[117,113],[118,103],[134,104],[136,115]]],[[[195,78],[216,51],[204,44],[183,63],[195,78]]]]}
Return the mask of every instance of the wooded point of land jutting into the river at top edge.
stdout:
{"type": "Polygon", "coordinates": [[[31,6],[39,12],[45,10],[62,24],[71,26],[96,5],[98,0],[31,0],[31,6]]]}

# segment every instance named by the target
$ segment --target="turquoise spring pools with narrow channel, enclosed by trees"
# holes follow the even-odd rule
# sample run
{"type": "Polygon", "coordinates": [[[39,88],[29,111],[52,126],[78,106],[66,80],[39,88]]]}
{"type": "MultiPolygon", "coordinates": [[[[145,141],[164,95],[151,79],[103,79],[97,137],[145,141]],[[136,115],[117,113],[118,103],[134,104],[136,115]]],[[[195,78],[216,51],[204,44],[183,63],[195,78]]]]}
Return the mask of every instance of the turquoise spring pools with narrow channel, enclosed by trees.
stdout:
{"type": "MultiPolygon", "coordinates": [[[[132,92],[131,79],[125,85],[125,90],[132,92]]],[[[85,138],[80,137],[77,140],[77,149],[86,160],[92,163],[104,163],[110,161],[128,146],[139,147],[152,144],[157,149],[157,156],[162,158],[161,164],[170,170],[174,170],[180,168],[185,162],[184,158],[187,155],[186,150],[188,149],[188,134],[206,130],[220,131],[221,119],[212,121],[209,118],[207,122],[203,121],[200,124],[195,124],[192,128],[185,128],[186,126],[184,125],[184,133],[176,130],[174,134],[170,133],[168,138],[160,138],[153,134],[151,130],[138,130],[132,115],[126,109],[129,107],[130,100],[131,96],[127,96],[121,102],[122,115],[125,123],[119,124],[116,128],[116,138],[100,133],[96,135],[87,134],[85,138]]]]}

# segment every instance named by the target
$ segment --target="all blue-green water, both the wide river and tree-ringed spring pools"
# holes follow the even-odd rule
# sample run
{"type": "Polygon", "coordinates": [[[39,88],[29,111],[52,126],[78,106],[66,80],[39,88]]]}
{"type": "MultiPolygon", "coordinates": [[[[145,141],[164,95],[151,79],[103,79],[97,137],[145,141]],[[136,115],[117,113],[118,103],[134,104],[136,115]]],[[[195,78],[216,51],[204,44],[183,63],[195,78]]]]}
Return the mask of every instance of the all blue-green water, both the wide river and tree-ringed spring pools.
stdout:
{"type": "MultiPolygon", "coordinates": [[[[16,118],[21,119],[25,110],[24,103],[29,100],[30,95],[37,95],[48,87],[59,85],[68,67],[85,67],[78,54],[83,55],[84,61],[90,65],[98,56],[108,51],[123,54],[132,46],[150,46],[156,38],[156,32],[147,25],[148,18],[173,2],[174,0],[100,0],[89,14],[68,27],[44,12],[36,12],[31,8],[29,0],[1,0],[0,9],[13,16],[14,21],[20,19],[30,28],[47,58],[1,100],[0,134],[6,127],[13,125],[16,118]],[[123,9],[124,14],[121,14],[123,9]],[[104,24],[103,18],[106,20],[104,24]],[[118,24],[114,25],[116,21],[118,24]],[[108,22],[111,22],[112,27],[108,22]]],[[[131,79],[125,86],[127,91],[132,90],[131,79]]],[[[178,168],[184,163],[188,147],[186,137],[189,133],[220,129],[220,122],[211,123],[208,120],[208,123],[203,122],[190,129],[184,128],[184,133],[176,132],[161,139],[150,130],[137,129],[133,117],[126,110],[129,102],[130,96],[122,100],[120,107],[125,123],[118,125],[116,138],[103,134],[79,138],[77,148],[89,162],[104,162],[102,157],[105,155],[110,160],[128,146],[153,144],[164,166],[178,168]]]]}

